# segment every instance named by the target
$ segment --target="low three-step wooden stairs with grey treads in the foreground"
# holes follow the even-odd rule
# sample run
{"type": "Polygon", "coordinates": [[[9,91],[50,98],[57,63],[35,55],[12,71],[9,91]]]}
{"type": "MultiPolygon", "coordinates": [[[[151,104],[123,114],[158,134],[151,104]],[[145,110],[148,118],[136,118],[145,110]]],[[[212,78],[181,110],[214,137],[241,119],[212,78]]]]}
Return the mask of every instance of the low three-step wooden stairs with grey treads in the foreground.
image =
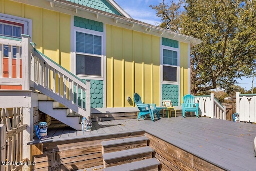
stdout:
{"type": "Polygon", "coordinates": [[[102,141],[104,171],[158,171],[145,136],[102,141]]]}

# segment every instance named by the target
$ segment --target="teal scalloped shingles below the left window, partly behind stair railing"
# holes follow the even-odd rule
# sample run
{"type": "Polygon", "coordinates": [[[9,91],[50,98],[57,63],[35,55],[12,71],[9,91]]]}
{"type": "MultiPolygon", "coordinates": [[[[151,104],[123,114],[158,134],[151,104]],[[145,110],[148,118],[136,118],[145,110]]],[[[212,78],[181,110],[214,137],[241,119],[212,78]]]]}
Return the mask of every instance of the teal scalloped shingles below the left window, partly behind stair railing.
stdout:
{"type": "MultiPolygon", "coordinates": [[[[83,79],[82,79],[83,80],[83,79]]],[[[85,80],[83,80],[85,82],[85,80]]],[[[76,89],[74,87],[74,100],[76,102],[76,89]]],[[[91,107],[103,107],[103,81],[90,81],[91,107]]],[[[78,89],[78,105],[81,105],[81,89],[78,89]]],[[[83,91],[83,106],[85,106],[85,92],[83,91]]]]}

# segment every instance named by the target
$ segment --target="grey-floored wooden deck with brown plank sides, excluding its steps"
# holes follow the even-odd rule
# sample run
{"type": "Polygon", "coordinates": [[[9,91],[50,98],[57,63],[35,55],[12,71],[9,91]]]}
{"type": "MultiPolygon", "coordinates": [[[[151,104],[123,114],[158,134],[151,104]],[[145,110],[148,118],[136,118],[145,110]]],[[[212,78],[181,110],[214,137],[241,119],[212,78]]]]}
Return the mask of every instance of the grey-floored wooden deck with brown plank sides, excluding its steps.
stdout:
{"type": "Polygon", "coordinates": [[[32,141],[33,169],[44,171],[54,166],[56,170],[76,170],[102,165],[101,141],[142,135],[149,139],[162,171],[250,171],[256,167],[255,124],[178,116],[154,122],[123,119],[93,125],[92,131],[85,133],[53,126],[48,139],[32,141]]]}

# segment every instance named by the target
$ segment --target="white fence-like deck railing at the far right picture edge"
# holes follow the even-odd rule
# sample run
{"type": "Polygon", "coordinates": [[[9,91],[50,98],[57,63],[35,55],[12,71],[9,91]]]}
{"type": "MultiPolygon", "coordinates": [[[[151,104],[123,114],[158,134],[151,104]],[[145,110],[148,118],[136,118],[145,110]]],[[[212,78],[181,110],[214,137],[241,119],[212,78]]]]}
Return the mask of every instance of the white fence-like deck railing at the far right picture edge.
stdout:
{"type": "Polygon", "coordinates": [[[236,92],[236,113],[240,121],[256,123],[256,94],[236,92]]]}

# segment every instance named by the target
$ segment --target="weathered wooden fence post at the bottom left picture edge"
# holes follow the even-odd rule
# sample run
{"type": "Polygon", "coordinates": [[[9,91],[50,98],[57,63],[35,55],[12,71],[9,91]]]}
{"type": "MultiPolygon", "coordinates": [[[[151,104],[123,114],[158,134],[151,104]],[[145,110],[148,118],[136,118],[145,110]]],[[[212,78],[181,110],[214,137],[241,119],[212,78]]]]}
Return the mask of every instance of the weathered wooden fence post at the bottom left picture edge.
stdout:
{"type": "Polygon", "coordinates": [[[5,162],[5,156],[6,156],[6,139],[5,139],[5,131],[6,128],[3,124],[0,124],[0,148],[1,148],[1,154],[0,154],[0,170],[5,170],[5,165],[2,165],[2,162],[5,162]]]}

